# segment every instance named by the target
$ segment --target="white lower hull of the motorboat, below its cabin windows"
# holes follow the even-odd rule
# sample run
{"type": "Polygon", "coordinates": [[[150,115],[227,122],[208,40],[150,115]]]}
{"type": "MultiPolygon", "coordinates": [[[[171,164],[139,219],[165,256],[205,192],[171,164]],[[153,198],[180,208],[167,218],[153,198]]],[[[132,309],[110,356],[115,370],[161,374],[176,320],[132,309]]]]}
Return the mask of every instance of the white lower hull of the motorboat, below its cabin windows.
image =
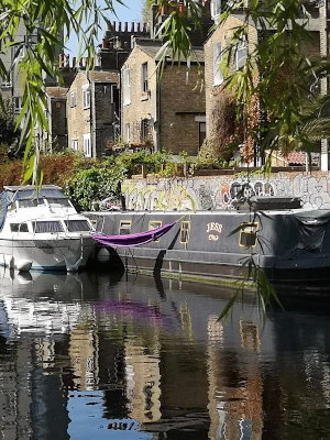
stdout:
{"type": "Polygon", "coordinates": [[[19,271],[76,272],[87,265],[95,249],[95,241],[90,237],[54,240],[0,239],[0,265],[19,271]]]}

